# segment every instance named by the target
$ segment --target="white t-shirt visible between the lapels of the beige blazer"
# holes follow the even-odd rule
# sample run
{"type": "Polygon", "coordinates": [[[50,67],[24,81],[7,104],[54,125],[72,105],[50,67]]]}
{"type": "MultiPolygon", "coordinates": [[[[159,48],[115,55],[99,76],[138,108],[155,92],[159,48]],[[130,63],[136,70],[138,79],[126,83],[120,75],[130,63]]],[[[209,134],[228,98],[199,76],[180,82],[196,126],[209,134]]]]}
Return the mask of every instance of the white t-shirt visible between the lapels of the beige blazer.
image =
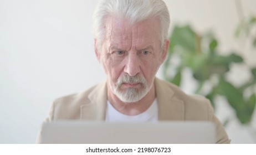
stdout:
{"type": "Polygon", "coordinates": [[[158,106],[157,100],[143,113],[135,116],[128,116],[117,111],[109,101],[106,106],[106,122],[157,122],[158,106]]]}

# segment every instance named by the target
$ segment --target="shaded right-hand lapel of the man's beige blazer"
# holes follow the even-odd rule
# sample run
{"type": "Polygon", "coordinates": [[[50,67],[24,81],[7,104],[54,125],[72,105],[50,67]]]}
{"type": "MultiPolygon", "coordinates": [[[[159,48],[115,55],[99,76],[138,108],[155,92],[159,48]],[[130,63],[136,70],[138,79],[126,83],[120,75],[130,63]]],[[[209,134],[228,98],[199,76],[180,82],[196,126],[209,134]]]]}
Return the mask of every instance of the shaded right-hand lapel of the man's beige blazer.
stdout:
{"type": "Polygon", "coordinates": [[[158,120],[182,121],[185,120],[183,101],[176,99],[175,92],[155,77],[156,96],[158,102],[158,120]]]}

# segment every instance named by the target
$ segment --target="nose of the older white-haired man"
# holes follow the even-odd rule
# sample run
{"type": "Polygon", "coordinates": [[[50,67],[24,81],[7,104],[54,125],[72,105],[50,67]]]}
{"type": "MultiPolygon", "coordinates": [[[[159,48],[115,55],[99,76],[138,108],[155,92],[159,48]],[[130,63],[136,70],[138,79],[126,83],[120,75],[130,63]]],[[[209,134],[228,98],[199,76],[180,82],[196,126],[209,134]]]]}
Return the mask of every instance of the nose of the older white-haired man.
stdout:
{"type": "Polygon", "coordinates": [[[137,53],[129,53],[125,64],[125,73],[135,76],[140,73],[140,58],[137,53]]]}

